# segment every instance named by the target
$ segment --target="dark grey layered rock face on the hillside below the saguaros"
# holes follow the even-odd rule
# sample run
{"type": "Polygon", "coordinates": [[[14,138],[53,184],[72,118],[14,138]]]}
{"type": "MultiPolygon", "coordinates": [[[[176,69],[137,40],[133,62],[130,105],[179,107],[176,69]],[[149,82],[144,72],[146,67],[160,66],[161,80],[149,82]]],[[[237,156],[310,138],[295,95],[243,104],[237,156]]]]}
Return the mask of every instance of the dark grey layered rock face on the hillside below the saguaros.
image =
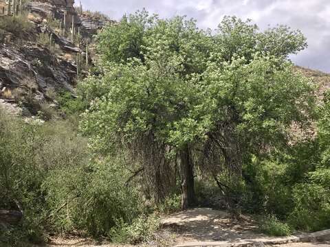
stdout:
{"type": "Polygon", "coordinates": [[[0,45],[0,104],[20,106],[23,115],[35,115],[45,102],[52,104],[55,91],[73,91],[75,76],[76,67],[48,49],[0,45]]]}

